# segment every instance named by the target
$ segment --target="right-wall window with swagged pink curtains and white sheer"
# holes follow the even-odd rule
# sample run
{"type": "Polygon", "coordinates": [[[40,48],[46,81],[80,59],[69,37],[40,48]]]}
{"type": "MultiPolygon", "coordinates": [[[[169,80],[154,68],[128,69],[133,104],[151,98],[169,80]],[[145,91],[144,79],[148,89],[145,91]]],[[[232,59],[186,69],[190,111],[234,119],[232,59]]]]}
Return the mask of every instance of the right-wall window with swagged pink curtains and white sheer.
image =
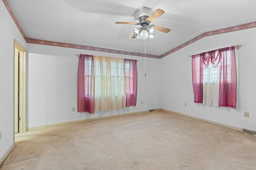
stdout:
{"type": "Polygon", "coordinates": [[[192,56],[194,102],[236,108],[236,57],[233,47],[192,56]]]}

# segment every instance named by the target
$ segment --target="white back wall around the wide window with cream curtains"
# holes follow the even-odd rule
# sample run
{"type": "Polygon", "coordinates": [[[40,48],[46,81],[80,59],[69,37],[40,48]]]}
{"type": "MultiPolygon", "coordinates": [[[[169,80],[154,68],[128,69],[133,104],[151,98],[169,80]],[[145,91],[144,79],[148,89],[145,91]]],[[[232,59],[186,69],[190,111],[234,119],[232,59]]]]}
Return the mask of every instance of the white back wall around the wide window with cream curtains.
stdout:
{"type": "Polygon", "coordinates": [[[144,57],[28,44],[28,127],[158,108],[159,62],[159,59],[146,59],[145,77],[144,57]],[[75,55],[80,53],[139,60],[137,106],[94,114],[72,111],[72,107],[77,110],[79,58],[75,55]]]}

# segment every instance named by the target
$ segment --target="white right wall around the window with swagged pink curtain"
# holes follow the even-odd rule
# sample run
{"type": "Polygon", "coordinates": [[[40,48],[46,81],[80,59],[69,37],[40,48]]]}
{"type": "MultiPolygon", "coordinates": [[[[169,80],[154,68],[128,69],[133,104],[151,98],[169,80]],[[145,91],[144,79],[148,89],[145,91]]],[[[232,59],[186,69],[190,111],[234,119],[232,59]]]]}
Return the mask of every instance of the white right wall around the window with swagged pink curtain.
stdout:
{"type": "Polygon", "coordinates": [[[161,59],[160,107],[218,123],[256,130],[256,28],[204,37],[161,59]],[[214,107],[194,103],[190,55],[243,45],[236,56],[237,107],[214,107]],[[187,106],[184,106],[187,103],[187,106]],[[244,117],[249,112],[249,118],[244,117]]]}

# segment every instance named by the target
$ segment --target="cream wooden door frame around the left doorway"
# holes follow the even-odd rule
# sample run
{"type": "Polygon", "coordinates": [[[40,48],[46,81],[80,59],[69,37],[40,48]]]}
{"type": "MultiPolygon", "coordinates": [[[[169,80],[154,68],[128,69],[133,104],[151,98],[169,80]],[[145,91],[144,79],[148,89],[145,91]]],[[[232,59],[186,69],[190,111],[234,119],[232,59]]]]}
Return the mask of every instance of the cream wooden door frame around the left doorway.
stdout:
{"type": "Polygon", "coordinates": [[[23,51],[23,55],[21,56],[22,60],[22,66],[21,70],[23,72],[22,76],[22,85],[21,89],[23,94],[20,96],[20,111],[22,114],[19,115],[20,121],[19,121],[19,127],[18,132],[25,132],[27,131],[27,50],[18,42],[16,39],[14,39],[14,134],[15,134],[15,113],[18,111],[18,82],[19,82],[19,75],[18,75],[18,57],[15,56],[15,49],[18,49],[19,51],[23,51]]]}

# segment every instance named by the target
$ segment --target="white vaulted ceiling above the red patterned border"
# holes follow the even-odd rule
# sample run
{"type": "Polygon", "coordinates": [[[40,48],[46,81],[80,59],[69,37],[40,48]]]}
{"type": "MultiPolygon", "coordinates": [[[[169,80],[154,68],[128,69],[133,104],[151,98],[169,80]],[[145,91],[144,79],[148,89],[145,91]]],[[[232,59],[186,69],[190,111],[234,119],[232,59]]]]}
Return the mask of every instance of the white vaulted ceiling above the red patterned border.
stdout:
{"type": "MultiPolygon", "coordinates": [[[[146,53],[163,55],[198,35],[256,21],[256,0],[7,0],[27,38],[144,53],[132,39],[142,7],[165,13],[152,22],[171,29],[146,40],[146,53]]],[[[91,53],[93,55],[93,51],[91,53]]]]}

